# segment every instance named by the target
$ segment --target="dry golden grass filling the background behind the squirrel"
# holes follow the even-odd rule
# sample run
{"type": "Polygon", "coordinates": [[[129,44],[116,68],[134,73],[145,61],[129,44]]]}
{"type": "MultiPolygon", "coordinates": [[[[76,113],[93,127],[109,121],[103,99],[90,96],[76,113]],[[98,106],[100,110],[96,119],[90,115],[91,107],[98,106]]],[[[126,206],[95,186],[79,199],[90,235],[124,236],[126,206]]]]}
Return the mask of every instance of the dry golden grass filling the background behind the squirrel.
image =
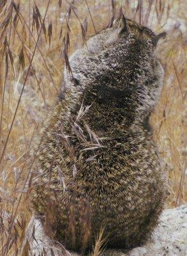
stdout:
{"type": "MultiPolygon", "coordinates": [[[[56,101],[63,63],[69,67],[68,53],[82,45],[87,36],[107,26],[112,15],[119,12],[121,3],[127,17],[158,32],[171,22],[170,17],[186,21],[184,2],[1,0],[1,255],[20,252],[24,229],[31,216],[26,186],[29,148],[38,124],[56,101]]],[[[187,38],[180,28],[170,29],[158,49],[166,70],[165,84],[151,118],[168,177],[168,207],[187,200],[184,104],[187,38]]]]}

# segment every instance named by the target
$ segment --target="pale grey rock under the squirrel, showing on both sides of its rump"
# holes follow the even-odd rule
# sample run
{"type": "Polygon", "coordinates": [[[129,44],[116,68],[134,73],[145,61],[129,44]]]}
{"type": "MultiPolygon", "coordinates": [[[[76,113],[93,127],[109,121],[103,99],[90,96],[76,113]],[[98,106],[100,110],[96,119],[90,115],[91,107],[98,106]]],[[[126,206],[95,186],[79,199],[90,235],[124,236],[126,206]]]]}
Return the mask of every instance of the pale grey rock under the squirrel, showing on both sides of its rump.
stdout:
{"type": "MultiPolygon", "coordinates": [[[[24,245],[29,243],[30,255],[65,255],[75,256],[65,248],[54,243],[46,236],[39,218],[33,217],[29,223],[24,245]],[[53,251],[53,252],[52,252],[53,251]]],[[[151,241],[146,246],[134,248],[127,254],[123,251],[105,250],[103,256],[186,256],[187,255],[187,205],[163,211],[160,224],[151,241]]]]}

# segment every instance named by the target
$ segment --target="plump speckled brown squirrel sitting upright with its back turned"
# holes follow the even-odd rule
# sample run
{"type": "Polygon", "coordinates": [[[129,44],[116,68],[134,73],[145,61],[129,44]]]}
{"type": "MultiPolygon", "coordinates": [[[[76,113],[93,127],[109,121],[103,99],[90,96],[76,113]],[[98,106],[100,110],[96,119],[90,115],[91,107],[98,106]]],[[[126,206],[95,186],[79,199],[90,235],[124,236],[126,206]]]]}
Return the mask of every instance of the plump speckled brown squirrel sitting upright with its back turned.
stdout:
{"type": "Polygon", "coordinates": [[[49,215],[57,241],[91,250],[143,244],[158,223],[165,182],[149,115],[161,92],[157,37],[116,21],[70,57],[62,93],[33,168],[34,211],[49,215]]]}

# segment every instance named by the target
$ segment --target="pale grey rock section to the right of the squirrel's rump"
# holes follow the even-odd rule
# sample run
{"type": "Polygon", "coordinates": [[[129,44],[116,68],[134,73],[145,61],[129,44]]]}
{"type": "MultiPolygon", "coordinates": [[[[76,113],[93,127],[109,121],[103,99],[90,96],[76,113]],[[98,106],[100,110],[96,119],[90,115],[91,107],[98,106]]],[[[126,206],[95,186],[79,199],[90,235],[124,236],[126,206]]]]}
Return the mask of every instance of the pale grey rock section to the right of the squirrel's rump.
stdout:
{"type": "Polygon", "coordinates": [[[135,248],[130,256],[186,256],[187,255],[187,205],[165,210],[160,217],[152,241],[135,248]],[[140,249],[146,249],[141,252],[140,249]]]}

